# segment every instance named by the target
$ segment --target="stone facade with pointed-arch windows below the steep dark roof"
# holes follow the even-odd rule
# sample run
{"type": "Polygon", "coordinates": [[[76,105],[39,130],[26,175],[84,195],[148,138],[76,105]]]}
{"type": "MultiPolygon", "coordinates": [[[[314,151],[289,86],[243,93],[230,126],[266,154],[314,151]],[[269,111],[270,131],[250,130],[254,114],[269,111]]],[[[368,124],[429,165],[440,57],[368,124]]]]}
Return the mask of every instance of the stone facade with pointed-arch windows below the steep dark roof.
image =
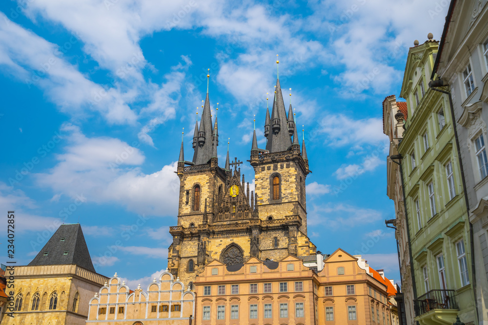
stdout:
{"type": "Polygon", "coordinates": [[[14,317],[4,315],[1,325],[84,325],[89,300],[107,280],[77,265],[16,267],[15,290],[11,296],[16,303],[21,298],[22,303],[20,310],[14,311],[14,317]],[[34,305],[37,297],[39,304],[34,305]]]}

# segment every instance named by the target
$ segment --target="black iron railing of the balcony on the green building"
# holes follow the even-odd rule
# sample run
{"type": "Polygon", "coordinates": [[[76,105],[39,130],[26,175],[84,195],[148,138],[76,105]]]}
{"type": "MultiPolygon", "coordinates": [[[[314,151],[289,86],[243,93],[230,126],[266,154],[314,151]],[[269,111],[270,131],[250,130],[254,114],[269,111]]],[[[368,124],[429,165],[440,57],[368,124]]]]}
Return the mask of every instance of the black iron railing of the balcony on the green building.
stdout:
{"type": "Polygon", "coordinates": [[[454,290],[430,290],[413,301],[415,316],[428,313],[433,309],[458,309],[454,290]]]}

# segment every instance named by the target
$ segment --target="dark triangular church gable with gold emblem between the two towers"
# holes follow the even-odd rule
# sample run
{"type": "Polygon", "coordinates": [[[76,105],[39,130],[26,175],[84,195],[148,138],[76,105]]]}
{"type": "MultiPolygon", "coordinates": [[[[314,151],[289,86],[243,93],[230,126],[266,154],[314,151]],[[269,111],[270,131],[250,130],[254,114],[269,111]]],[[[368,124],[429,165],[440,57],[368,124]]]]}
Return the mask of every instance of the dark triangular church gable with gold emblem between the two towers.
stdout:
{"type": "Polygon", "coordinates": [[[230,177],[227,186],[225,186],[225,191],[222,191],[221,193],[219,193],[218,208],[215,213],[214,222],[253,218],[253,213],[248,200],[249,183],[247,183],[246,197],[244,194],[244,187],[242,186],[237,173],[234,173],[234,176],[230,177]]]}

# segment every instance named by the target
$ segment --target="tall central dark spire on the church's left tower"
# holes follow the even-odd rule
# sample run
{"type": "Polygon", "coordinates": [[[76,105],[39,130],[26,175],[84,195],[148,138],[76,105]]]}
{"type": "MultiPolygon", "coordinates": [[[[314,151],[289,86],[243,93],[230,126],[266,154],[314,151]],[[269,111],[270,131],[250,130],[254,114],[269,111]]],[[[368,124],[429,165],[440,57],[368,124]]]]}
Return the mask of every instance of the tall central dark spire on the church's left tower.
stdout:
{"type": "Polygon", "coordinates": [[[195,148],[195,156],[193,158],[195,165],[206,164],[212,157],[213,135],[212,116],[210,115],[210,100],[208,99],[207,93],[205,103],[203,105],[202,118],[200,120],[200,130],[198,136],[199,148],[195,148]]]}

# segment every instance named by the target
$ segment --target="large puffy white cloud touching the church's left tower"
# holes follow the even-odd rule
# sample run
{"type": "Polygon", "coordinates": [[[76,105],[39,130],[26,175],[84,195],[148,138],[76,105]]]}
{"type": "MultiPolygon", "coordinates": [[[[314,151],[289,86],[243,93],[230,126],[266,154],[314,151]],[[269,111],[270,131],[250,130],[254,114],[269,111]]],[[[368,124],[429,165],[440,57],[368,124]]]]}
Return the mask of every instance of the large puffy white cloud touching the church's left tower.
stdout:
{"type": "Polygon", "coordinates": [[[47,173],[35,174],[37,182],[70,197],[83,194],[88,202],[116,202],[139,214],[174,215],[180,182],[176,162],[160,171],[144,174],[137,165],[145,157],[127,143],[109,137],[88,138],[65,124],[68,146],[57,155],[58,164],[47,173]]]}

